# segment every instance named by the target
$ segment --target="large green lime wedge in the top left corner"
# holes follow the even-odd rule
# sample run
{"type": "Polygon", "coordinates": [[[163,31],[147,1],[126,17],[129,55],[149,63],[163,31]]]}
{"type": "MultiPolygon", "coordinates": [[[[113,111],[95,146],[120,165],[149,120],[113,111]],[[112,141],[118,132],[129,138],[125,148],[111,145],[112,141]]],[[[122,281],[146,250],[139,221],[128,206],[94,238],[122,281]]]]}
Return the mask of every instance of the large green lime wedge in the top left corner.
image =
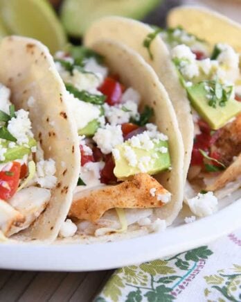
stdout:
{"type": "Polygon", "coordinates": [[[46,0],[0,0],[0,14],[10,33],[34,37],[54,53],[66,43],[66,35],[46,0]]]}

